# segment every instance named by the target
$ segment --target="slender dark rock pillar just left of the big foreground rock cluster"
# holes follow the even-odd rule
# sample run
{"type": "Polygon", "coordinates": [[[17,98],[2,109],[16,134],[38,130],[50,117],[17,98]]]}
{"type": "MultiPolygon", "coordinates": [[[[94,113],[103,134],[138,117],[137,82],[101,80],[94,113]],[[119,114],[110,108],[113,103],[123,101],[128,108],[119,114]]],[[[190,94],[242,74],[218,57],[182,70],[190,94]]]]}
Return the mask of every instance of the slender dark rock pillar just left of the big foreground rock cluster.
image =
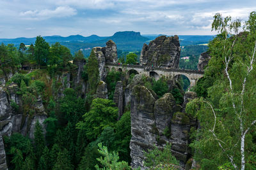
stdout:
{"type": "Polygon", "coordinates": [[[122,117],[123,111],[124,111],[123,99],[124,99],[123,82],[117,81],[113,101],[116,103],[116,106],[118,107],[118,120],[122,117]]]}

